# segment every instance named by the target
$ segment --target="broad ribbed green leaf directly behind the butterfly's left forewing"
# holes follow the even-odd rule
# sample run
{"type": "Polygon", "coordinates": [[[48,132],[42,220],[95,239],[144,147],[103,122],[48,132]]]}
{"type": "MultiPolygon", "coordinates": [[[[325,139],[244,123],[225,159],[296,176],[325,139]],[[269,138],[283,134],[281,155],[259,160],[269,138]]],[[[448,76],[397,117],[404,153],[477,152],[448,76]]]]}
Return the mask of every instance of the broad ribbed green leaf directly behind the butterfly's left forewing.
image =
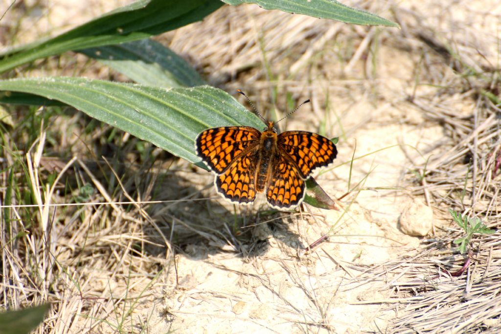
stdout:
{"type": "Polygon", "coordinates": [[[205,169],[194,152],[195,137],[202,130],[263,127],[233,97],[208,86],[164,89],[82,78],[26,78],[0,81],[0,90],[64,102],[205,169]]]}

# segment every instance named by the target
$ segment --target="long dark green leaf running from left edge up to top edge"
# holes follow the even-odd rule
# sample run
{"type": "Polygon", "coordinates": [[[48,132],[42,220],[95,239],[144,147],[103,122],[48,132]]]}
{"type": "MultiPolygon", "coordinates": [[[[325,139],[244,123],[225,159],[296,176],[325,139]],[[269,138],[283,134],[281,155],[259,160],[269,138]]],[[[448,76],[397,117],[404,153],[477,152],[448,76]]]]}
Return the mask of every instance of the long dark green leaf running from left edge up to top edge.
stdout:
{"type": "Polygon", "coordinates": [[[200,21],[221,6],[218,0],[139,0],[48,41],[11,50],[0,60],[0,73],[70,50],[142,40],[200,21]]]}

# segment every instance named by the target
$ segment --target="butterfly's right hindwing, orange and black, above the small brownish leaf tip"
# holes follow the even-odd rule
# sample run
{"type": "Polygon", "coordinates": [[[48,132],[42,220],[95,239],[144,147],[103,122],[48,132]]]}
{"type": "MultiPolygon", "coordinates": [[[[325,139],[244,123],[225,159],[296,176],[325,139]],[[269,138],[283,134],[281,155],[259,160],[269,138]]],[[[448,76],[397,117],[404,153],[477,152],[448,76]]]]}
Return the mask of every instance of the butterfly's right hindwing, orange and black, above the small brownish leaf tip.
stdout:
{"type": "Polygon", "coordinates": [[[304,197],[305,181],[301,178],[301,172],[284,155],[280,155],[266,190],[268,203],[279,209],[289,208],[301,203],[304,197]]]}

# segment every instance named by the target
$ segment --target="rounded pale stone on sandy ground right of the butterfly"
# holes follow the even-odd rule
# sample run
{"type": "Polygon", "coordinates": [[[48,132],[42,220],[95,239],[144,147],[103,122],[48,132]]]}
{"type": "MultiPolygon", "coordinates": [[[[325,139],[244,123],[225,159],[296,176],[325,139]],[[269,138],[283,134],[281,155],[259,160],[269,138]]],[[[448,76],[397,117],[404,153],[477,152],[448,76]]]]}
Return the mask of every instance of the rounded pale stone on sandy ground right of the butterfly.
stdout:
{"type": "Polygon", "coordinates": [[[400,215],[400,229],[407,235],[425,236],[433,227],[433,210],[421,200],[410,202],[400,215]]]}

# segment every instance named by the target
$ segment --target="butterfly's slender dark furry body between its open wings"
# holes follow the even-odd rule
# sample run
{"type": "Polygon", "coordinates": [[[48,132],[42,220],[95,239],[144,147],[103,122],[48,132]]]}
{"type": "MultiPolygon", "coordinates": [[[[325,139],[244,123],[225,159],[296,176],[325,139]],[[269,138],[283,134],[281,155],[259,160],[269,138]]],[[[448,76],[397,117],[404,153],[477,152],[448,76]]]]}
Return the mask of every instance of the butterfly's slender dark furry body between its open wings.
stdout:
{"type": "Polygon", "coordinates": [[[268,178],[274,174],[271,170],[274,166],[273,159],[278,155],[277,132],[274,125],[274,122],[268,122],[267,129],[261,133],[260,149],[257,152],[258,168],[256,168],[255,175],[257,192],[265,191],[269,181],[268,178]]]}

